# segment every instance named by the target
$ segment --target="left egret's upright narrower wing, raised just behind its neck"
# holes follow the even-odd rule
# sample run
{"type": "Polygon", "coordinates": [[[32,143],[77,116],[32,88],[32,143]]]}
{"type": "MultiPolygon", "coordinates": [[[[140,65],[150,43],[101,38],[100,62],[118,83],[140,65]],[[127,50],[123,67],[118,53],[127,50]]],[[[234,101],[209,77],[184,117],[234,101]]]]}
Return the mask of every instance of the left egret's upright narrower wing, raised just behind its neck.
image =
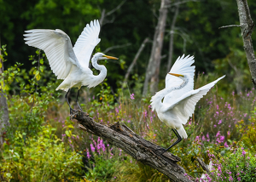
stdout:
{"type": "Polygon", "coordinates": [[[89,67],[90,55],[101,41],[99,38],[100,30],[101,26],[98,20],[90,21],[90,25],[87,24],[84,27],[84,31],[73,47],[74,53],[83,67],[89,67]]]}

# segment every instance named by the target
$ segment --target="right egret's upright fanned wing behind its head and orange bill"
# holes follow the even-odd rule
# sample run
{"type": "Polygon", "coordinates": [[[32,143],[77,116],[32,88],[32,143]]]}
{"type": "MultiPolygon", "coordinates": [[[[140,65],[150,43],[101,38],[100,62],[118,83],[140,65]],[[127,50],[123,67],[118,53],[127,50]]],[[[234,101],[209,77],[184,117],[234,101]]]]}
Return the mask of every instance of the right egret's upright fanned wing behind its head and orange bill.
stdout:
{"type": "MultiPolygon", "coordinates": [[[[194,74],[195,74],[195,65],[192,65],[195,62],[194,56],[187,55],[184,57],[178,57],[170,73],[177,73],[181,75],[187,75],[189,77],[188,84],[182,89],[174,90],[172,93],[167,94],[164,103],[170,103],[172,100],[177,99],[183,94],[188,93],[194,88],[194,74]],[[192,65],[192,66],[191,66],[192,65]]],[[[183,83],[183,80],[179,77],[172,76],[170,74],[166,75],[166,88],[175,87],[183,83]]]]}

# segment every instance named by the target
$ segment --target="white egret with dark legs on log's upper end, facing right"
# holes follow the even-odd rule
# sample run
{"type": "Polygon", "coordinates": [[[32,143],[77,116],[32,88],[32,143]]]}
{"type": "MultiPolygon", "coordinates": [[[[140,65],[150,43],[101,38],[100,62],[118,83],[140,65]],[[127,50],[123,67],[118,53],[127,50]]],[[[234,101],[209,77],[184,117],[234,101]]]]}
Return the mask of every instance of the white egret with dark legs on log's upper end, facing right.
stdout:
{"type": "MultiPolygon", "coordinates": [[[[56,90],[61,89],[68,94],[70,88],[79,88],[79,90],[82,86],[92,88],[103,82],[107,76],[107,69],[104,65],[98,65],[97,60],[118,60],[118,58],[112,56],[96,53],[92,57],[91,63],[96,70],[100,71],[100,74],[95,76],[90,70],[90,55],[101,41],[98,37],[100,29],[101,26],[98,20],[90,21],[90,25],[87,24],[84,27],[84,31],[82,31],[74,47],[67,34],[59,29],[25,31],[24,40],[27,45],[44,50],[49,60],[50,68],[57,76],[57,79],[64,79],[56,90]]],[[[65,95],[66,100],[67,94],[65,95]]],[[[76,103],[79,105],[78,97],[79,91],[76,99],[76,103]]],[[[67,104],[70,112],[74,111],[68,100],[67,104]]],[[[80,105],[79,109],[82,110],[80,105]]]]}

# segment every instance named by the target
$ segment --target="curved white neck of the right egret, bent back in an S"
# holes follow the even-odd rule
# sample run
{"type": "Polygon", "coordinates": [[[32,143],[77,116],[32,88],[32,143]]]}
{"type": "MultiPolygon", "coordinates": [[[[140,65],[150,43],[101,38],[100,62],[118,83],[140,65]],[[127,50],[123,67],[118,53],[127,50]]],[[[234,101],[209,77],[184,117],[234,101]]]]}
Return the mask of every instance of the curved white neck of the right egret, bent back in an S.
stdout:
{"type": "Polygon", "coordinates": [[[172,91],[181,89],[188,84],[188,82],[189,82],[188,77],[184,76],[184,77],[180,77],[180,78],[183,79],[183,83],[180,84],[179,86],[164,88],[164,89],[160,90],[159,92],[157,92],[156,94],[154,94],[154,96],[150,100],[151,101],[150,105],[152,106],[153,110],[160,109],[160,106],[163,105],[162,100],[166,96],[166,94],[170,94],[172,91]]]}

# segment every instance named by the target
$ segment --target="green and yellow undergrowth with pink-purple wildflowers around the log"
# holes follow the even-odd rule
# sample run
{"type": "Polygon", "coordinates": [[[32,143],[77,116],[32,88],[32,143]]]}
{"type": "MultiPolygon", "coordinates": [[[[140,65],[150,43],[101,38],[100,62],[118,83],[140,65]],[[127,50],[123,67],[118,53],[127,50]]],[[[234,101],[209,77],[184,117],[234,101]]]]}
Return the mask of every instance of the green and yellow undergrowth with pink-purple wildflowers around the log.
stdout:
{"type": "MultiPolygon", "coordinates": [[[[69,119],[64,93],[55,92],[60,82],[55,82],[44,64],[44,55],[31,60],[35,65],[31,71],[17,64],[1,76],[11,124],[1,149],[1,181],[168,181],[108,141],[80,131],[69,119]]],[[[136,89],[119,89],[117,94],[107,82],[97,86],[98,92],[83,88],[82,108],[96,122],[125,123],[143,138],[168,147],[176,137],[151,111],[150,96],[139,94],[142,84],[134,79],[136,89]]],[[[195,88],[213,79],[197,75],[195,88]]],[[[195,114],[185,125],[188,139],[171,152],[181,157],[179,165],[198,181],[256,180],[254,90],[227,93],[220,89],[221,84],[196,105],[195,114]],[[204,174],[197,156],[212,164],[212,176],[204,174]]]]}

